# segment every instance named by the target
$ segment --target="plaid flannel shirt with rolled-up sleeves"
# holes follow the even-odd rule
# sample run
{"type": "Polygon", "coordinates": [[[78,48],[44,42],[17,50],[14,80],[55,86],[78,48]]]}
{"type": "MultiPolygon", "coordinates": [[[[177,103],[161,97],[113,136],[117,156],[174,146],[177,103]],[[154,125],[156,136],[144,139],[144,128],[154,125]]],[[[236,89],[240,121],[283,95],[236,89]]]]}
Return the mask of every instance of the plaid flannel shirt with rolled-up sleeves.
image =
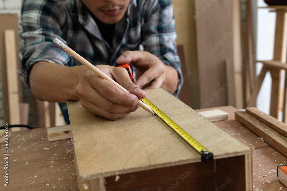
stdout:
{"type": "MultiPolygon", "coordinates": [[[[104,14],[104,10],[98,14],[104,14]]],[[[124,51],[148,51],[177,70],[179,83],[174,95],[179,94],[183,75],[174,41],[177,34],[171,0],[131,0],[115,25],[113,47],[102,38],[81,0],[24,0],[21,19],[22,67],[18,74],[28,85],[30,71],[37,62],[81,65],[53,43],[57,37],[94,65],[118,66],[116,60],[124,51]]]]}

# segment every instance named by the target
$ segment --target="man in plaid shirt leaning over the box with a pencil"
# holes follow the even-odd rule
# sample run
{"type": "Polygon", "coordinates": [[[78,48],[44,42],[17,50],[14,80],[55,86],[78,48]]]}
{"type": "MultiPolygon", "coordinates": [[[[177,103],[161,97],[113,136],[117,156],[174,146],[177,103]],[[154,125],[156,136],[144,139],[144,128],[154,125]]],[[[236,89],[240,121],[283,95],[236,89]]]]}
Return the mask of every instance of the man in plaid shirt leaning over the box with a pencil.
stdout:
{"type": "Polygon", "coordinates": [[[24,0],[20,78],[40,100],[80,100],[115,120],[135,111],[142,89],[182,86],[171,0],[24,0]],[[53,43],[57,37],[131,94],[88,70],[53,43]],[[124,68],[130,63],[136,82],[124,68]]]}

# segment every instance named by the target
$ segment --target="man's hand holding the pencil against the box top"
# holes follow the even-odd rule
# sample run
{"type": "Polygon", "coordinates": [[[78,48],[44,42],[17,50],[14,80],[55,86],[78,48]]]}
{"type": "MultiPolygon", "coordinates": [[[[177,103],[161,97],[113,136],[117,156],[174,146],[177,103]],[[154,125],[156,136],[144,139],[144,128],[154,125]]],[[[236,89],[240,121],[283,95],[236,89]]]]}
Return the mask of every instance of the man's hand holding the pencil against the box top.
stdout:
{"type": "Polygon", "coordinates": [[[146,93],[131,82],[125,68],[107,65],[96,67],[131,93],[123,92],[112,82],[88,70],[82,75],[75,88],[82,107],[92,115],[111,120],[125,117],[139,108],[137,103],[146,97],[146,93]]]}

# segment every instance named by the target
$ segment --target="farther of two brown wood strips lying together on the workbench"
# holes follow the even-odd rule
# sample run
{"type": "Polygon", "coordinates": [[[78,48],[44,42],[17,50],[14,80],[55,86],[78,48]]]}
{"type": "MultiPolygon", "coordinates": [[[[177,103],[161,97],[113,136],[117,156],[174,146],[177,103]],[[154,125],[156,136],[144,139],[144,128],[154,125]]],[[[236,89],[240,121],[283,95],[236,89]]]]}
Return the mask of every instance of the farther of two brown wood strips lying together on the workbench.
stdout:
{"type": "Polygon", "coordinates": [[[270,115],[267,115],[263,113],[262,111],[256,109],[255,107],[247,107],[246,112],[252,115],[253,117],[256,117],[281,135],[287,137],[287,125],[275,117],[272,117],[270,115]]]}

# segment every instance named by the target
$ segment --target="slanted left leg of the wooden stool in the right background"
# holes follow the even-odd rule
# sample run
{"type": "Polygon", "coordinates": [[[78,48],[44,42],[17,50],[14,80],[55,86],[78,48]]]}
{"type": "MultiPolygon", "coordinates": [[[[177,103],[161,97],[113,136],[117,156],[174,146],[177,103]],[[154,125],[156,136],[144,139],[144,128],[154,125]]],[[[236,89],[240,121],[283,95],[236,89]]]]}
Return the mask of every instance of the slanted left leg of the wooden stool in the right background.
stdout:
{"type": "Polygon", "coordinates": [[[256,106],[256,99],[257,99],[258,93],[260,91],[261,85],[263,83],[263,80],[265,78],[265,75],[266,75],[267,71],[268,71],[268,68],[263,66],[259,76],[257,76],[255,84],[254,84],[253,91],[251,92],[250,100],[249,100],[249,102],[247,104],[248,107],[256,106]]]}

